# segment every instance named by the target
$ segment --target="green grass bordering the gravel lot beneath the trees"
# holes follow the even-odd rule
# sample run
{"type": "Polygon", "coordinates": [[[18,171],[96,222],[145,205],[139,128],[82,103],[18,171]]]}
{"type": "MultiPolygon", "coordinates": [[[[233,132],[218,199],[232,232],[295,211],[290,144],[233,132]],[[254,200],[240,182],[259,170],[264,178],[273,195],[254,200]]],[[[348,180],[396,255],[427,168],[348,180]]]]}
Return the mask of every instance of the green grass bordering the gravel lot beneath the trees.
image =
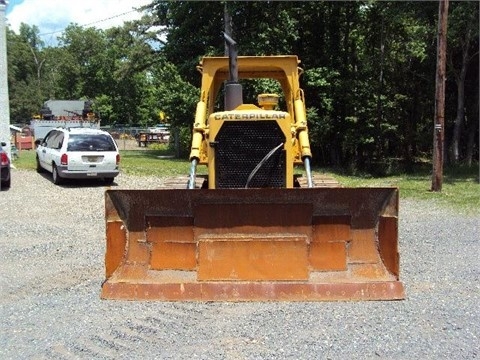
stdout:
{"type": "MultiPolygon", "coordinates": [[[[174,159],[166,147],[145,150],[120,150],[122,172],[137,176],[187,175],[190,164],[186,159],[174,159]]],[[[35,170],[35,151],[20,151],[13,161],[16,168],[35,170]]],[[[205,166],[198,168],[206,174],[205,166]]],[[[342,171],[314,169],[314,173],[327,174],[345,187],[395,186],[400,189],[400,198],[431,200],[463,213],[480,214],[480,185],[478,164],[472,167],[448,167],[444,171],[442,192],[431,192],[431,167],[424,165],[413,174],[396,174],[387,177],[369,175],[346,175],[342,171]]]]}

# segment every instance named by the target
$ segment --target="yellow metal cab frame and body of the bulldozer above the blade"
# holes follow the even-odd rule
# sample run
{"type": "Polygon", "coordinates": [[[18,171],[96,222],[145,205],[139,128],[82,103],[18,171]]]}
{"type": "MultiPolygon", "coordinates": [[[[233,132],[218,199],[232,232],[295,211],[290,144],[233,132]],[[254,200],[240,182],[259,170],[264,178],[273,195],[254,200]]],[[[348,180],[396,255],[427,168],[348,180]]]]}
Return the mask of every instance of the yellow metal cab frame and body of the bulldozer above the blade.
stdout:
{"type": "MultiPolygon", "coordinates": [[[[301,164],[304,157],[311,157],[310,142],[303,91],[299,85],[302,69],[295,55],[278,56],[239,56],[237,58],[239,79],[274,79],[283,91],[288,121],[277,121],[288,140],[284,149],[287,151],[287,187],[293,187],[293,164],[301,164]]],[[[190,160],[197,159],[199,164],[208,165],[210,180],[215,179],[214,152],[208,146],[209,139],[214,139],[223,121],[215,120],[214,104],[224,81],[229,79],[228,57],[204,57],[197,69],[202,73],[200,101],[193,125],[192,148],[190,160]]],[[[255,105],[244,104],[230,113],[265,113],[255,105]]],[[[228,120],[227,120],[228,121],[228,120]]],[[[250,120],[246,120],[250,121],[250,120]]],[[[209,184],[214,181],[209,181],[209,184]]],[[[214,186],[214,185],[210,185],[214,186]]]]}

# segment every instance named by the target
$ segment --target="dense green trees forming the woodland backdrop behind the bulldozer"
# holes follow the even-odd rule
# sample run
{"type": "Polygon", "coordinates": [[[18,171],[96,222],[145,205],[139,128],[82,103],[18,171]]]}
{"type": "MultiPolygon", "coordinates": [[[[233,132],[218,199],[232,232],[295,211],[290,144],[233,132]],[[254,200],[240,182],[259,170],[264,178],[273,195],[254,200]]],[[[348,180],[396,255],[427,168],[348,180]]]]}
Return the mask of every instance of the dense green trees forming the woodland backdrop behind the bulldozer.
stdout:
{"type": "MultiPolygon", "coordinates": [[[[8,31],[12,121],[47,99],[89,98],[104,124],[149,125],[162,111],[189,129],[196,65],[224,54],[227,12],[240,55],[301,59],[315,163],[374,171],[431,155],[436,2],[152,0],[144,10],[108,30],[70,24],[56,47],[34,26],[8,31]]],[[[453,3],[448,32],[446,139],[452,159],[469,163],[478,159],[478,14],[478,2],[453,3]]]]}

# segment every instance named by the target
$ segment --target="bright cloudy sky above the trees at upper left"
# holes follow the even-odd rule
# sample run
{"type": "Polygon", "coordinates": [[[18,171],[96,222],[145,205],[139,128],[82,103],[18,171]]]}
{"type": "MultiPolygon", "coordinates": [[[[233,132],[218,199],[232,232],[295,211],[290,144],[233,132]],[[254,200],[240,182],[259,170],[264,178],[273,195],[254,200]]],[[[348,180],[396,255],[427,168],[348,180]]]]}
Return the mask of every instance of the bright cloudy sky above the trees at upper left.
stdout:
{"type": "Polygon", "coordinates": [[[46,46],[56,39],[70,23],[108,29],[125,21],[139,19],[135,8],[151,0],[9,0],[6,9],[8,27],[18,34],[21,23],[36,25],[46,46]]]}

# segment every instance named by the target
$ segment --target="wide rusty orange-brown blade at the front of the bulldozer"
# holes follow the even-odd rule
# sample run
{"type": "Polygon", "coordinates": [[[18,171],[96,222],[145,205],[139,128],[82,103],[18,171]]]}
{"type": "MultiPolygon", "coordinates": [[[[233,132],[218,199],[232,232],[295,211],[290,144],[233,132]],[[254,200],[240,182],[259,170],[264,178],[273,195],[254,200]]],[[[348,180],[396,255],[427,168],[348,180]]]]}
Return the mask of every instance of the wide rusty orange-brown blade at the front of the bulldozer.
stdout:
{"type": "Polygon", "coordinates": [[[101,297],[403,299],[396,188],[108,190],[101,297]]]}

